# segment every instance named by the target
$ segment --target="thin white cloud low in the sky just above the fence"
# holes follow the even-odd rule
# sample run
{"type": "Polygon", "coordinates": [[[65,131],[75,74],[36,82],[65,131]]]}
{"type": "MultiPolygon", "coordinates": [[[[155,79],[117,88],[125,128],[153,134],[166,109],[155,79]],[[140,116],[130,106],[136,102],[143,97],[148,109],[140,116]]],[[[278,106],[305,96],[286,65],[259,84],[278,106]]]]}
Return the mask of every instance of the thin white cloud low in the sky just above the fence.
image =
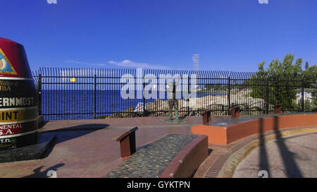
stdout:
{"type": "Polygon", "coordinates": [[[121,66],[121,67],[130,67],[130,68],[150,68],[150,69],[169,69],[167,66],[158,66],[158,65],[151,65],[147,63],[137,63],[130,61],[128,59],[125,59],[123,61],[108,61],[108,64],[92,64],[87,62],[80,62],[80,61],[74,61],[74,60],[68,60],[67,63],[73,63],[73,64],[84,64],[89,66],[100,66],[100,67],[106,67],[108,64],[114,65],[114,66],[121,66]]]}

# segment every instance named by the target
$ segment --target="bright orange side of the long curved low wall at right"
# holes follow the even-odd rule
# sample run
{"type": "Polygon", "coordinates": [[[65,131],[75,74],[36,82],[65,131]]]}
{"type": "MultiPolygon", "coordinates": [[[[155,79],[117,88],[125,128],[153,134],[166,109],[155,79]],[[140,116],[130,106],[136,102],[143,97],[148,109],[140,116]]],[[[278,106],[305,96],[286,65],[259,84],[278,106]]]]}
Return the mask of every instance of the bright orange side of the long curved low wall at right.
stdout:
{"type": "Polygon", "coordinates": [[[228,127],[199,125],[192,127],[192,133],[208,136],[209,143],[227,145],[260,132],[306,126],[317,126],[317,114],[270,116],[231,124],[228,127]]]}

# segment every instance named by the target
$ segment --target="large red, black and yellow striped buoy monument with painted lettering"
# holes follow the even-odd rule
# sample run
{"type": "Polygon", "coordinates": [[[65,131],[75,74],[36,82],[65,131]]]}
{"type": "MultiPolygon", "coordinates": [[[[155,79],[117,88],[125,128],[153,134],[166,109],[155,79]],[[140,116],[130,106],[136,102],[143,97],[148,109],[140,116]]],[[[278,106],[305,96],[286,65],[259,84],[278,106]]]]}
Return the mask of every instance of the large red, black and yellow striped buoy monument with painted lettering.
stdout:
{"type": "Polygon", "coordinates": [[[0,150],[37,143],[37,99],[23,45],[0,37],[0,150]]]}

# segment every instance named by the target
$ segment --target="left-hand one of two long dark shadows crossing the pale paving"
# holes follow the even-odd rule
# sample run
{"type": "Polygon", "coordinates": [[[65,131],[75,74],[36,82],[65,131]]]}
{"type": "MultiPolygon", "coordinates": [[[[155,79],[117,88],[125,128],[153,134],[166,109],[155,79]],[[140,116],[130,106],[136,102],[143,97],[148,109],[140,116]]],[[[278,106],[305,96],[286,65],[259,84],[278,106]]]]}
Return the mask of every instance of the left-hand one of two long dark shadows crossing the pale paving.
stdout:
{"type": "Polygon", "coordinates": [[[265,136],[263,131],[263,118],[259,119],[259,141],[260,141],[260,157],[259,157],[259,164],[260,164],[260,171],[265,170],[268,172],[268,177],[270,175],[270,169],[268,164],[268,153],[266,152],[266,145],[265,145],[265,136]]]}

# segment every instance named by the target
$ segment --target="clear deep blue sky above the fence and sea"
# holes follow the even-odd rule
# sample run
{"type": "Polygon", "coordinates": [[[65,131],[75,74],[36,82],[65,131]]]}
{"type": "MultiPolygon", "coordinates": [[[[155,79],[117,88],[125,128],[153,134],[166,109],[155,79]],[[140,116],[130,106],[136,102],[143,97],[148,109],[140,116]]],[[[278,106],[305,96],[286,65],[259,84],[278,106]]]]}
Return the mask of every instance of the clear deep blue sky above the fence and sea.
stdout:
{"type": "Polygon", "coordinates": [[[0,0],[0,37],[31,69],[256,71],[292,53],[317,64],[316,0],[0,0]]]}

